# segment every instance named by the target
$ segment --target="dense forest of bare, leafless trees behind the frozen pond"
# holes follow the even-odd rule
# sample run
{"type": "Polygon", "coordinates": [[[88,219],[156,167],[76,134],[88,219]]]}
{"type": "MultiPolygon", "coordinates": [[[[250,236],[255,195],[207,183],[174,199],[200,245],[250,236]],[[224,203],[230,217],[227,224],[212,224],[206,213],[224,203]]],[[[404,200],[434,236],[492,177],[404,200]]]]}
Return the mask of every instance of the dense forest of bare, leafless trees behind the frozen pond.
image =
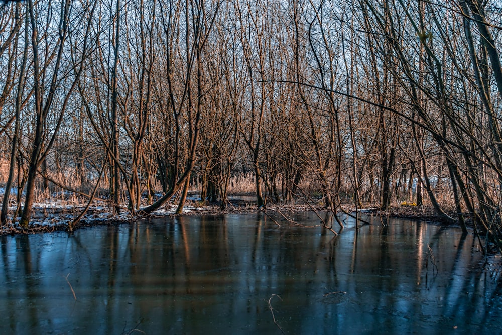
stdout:
{"type": "Polygon", "coordinates": [[[0,221],[58,192],[225,209],[240,181],[429,206],[500,250],[501,31],[489,0],[4,0],[0,221]]]}

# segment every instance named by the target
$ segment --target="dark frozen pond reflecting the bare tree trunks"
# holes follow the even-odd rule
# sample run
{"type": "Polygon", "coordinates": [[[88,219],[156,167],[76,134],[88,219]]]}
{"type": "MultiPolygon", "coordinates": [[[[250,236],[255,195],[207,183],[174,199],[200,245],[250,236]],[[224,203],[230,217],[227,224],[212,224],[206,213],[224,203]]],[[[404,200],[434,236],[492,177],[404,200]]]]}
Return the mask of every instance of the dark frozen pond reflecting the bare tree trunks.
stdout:
{"type": "Polygon", "coordinates": [[[502,285],[472,234],[346,223],[336,238],[257,214],[3,236],[0,333],[502,332],[502,285]]]}

